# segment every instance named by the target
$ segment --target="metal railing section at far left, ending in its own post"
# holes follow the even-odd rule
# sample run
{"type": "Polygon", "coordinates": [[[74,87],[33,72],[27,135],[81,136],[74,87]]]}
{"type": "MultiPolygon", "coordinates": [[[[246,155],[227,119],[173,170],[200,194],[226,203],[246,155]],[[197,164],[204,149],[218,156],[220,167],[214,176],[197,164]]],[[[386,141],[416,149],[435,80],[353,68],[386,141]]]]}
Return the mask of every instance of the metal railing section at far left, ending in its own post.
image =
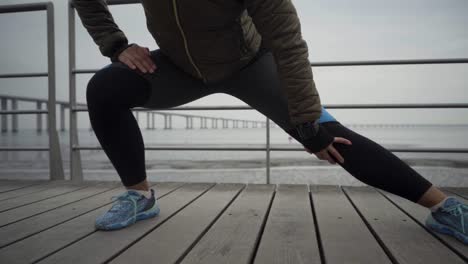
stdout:
{"type": "MultiPolygon", "coordinates": [[[[60,152],[60,144],[56,128],[56,98],[55,98],[55,29],[54,29],[54,5],[52,2],[40,2],[32,4],[0,5],[0,14],[46,11],[47,16],[47,72],[0,74],[0,78],[23,77],[47,77],[48,78],[48,105],[47,110],[15,110],[0,111],[0,115],[8,114],[47,114],[49,147],[6,147],[0,151],[49,151],[50,179],[63,180],[63,164],[60,152]]],[[[2,32],[3,37],[7,32],[2,32]]]]}

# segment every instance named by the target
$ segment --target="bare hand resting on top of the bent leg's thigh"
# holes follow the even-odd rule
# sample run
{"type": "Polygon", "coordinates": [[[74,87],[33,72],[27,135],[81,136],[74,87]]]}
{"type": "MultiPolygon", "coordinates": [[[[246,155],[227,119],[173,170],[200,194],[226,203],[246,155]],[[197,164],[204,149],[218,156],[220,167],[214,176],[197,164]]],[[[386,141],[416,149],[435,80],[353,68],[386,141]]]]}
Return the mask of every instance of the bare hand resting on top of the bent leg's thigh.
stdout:
{"type": "Polygon", "coordinates": [[[119,61],[125,63],[132,69],[138,69],[143,73],[151,72],[156,70],[156,65],[151,59],[150,51],[146,47],[140,47],[137,44],[123,50],[119,56],[119,61]]]}

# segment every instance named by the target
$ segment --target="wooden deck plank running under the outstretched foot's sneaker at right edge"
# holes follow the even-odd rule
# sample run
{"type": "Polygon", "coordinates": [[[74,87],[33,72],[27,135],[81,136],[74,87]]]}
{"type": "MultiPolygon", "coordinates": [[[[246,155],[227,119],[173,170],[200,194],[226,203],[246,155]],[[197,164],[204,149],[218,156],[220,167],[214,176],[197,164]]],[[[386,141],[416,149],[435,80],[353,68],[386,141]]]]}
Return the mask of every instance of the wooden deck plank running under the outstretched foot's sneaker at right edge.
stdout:
{"type": "MultiPolygon", "coordinates": [[[[417,221],[420,225],[426,228],[425,221],[426,221],[427,216],[431,212],[428,208],[421,206],[417,203],[413,203],[412,201],[409,201],[395,194],[392,194],[386,191],[381,191],[381,192],[386,197],[388,197],[388,199],[390,199],[397,206],[399,206],[404,212],[406,212],[411,217],[413,217],[415,221],[417,221]]],[[[465,203],[467,202],[467,200],[463,199],[462,197],[458,197],[458,198],[463,200],[465,203]]],[[[461,243],[460,241],[458,241],[452,236],[433,232],[432,230],[428,228],[426,228],[426,230],[432,233],[433,235],[437,236],[438,238],[442,239],[468,263],[468,247],[466,245],[464,245],[463,243],[461,243]]]]}

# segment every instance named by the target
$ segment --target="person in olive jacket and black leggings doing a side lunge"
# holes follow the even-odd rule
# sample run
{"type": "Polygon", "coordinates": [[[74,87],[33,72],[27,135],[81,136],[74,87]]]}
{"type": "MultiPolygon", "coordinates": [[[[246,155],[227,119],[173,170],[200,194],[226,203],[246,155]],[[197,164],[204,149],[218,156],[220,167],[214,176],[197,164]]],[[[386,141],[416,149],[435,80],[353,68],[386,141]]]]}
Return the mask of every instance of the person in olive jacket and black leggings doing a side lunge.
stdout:
{"type": "Polygon", "coordinates": [[[131,108],[176,107],[214,93],[244,101],[304,149],[370,186],[431,210],[426,225],[468,243],[468,207],[321,105],[290,0],[142,0],[158,49],[129,43],[104,0],[75,0],[83,26],[110,64],[88,82],[91,125],[127,191],[96,227],[114,230],[155,217],[144,142],[131,108]]]}

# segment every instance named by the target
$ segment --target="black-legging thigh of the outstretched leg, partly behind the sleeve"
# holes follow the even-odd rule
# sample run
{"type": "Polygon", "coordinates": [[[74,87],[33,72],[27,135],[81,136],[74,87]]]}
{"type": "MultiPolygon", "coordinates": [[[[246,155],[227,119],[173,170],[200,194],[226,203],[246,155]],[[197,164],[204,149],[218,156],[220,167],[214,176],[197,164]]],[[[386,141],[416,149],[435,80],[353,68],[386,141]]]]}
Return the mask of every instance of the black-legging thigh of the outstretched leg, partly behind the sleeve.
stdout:
{"type": "MultiPolygon", "coordinates": [[[[262,55],[223,83],[224,92],[255,108],[283,130],[292,129],[286,94],[281,88],[275,60],[271,52],[262,55]]],[[[324,107],[320,123],[338,122],[324,107]]]]}

